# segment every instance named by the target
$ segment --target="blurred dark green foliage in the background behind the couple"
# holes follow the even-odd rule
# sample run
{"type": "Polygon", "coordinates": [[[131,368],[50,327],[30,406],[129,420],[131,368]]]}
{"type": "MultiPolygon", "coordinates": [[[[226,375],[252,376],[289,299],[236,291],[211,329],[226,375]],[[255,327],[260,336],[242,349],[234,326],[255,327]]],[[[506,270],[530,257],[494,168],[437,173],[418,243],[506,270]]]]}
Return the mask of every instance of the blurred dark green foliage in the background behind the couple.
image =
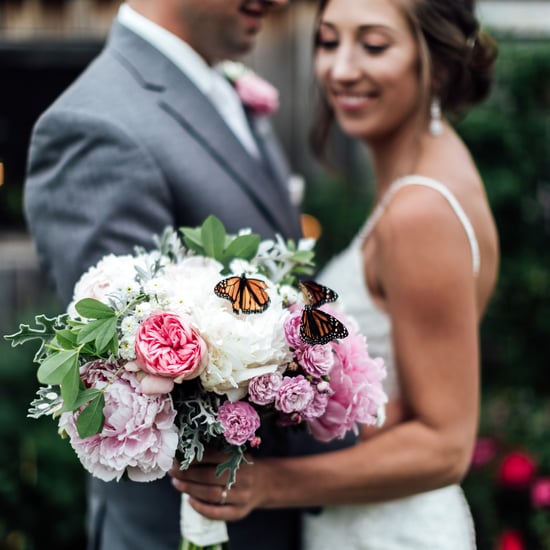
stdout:
{"type": "MultiPolygon", "coordinates": [[[[532,506],[528,484],[521,498],[504,498],[499,468],[507,453],[520,449],[536,472],[550,474],[550,43],[499,42],[493,94],[457,123],[485,180],[502,249],[498,289],[482,326],[480,435],[498,445],[482,466],[472,468],[464,489],[480,550],[540,550],[550,548],[550,511],[540,502],[532,506]],[[520,503],[521,511],[510,515],[503,502],[520,503]],[[506,547],[510,530],[523,546],[506,547]]],[[[320,264],[363,222],[372,200],[369,179],[364,162],[359,176],[318,173],[309,183],[304,211],[324,228],[320,264]]],[[[14,218],[20,205],[20,195],[10,196],[14,218]]],[[[28,323],[35,313],[54,314],[55,308],[46,299],[33,311],[19,312],[17,321],[28,323]]],[[[32,355],[29,348],[0,341],[0,550],[84,548],[82,468],[51,421],[26,418],[37,387],[32,355]]]]}

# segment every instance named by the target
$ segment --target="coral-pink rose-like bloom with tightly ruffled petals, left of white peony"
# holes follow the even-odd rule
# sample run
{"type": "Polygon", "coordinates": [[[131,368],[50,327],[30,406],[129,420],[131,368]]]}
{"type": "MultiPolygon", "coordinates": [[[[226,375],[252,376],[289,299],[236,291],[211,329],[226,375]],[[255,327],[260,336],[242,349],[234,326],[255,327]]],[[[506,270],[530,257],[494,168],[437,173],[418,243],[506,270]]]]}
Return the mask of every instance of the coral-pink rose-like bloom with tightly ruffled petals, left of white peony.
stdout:
{"type": "Polygon", "coordinates": [[[136,334],[136,357],[145,372],[180,383],[198,376],[206,362],[206,344],[185,317],[158,312],[136,334]]]}

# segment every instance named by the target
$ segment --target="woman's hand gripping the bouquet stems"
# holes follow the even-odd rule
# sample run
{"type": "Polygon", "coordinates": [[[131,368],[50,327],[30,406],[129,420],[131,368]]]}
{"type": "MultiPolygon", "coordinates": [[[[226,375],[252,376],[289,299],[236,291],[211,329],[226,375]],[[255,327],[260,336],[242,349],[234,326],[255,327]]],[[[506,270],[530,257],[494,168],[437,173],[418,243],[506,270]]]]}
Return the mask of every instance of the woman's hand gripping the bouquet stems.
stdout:
{"type": "Polygon", "coordinates": [[[227,460],[227,454],[207,451],[200,463],[180,470],[177,461],[168,472],[174,487],[187,493],[193,508],[210,519],[234,521],[247,516],[262,502],[261,467],[243,462],[237,471],[236,482],[227,489],[229,473],[216,475],[216,467],[227,460]]]}

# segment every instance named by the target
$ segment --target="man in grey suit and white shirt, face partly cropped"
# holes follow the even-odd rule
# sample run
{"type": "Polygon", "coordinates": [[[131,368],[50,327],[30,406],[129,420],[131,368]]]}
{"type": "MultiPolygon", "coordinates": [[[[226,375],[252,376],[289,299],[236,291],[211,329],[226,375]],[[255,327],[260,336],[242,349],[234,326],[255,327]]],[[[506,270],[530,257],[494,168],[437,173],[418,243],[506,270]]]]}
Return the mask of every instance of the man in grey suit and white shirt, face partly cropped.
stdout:
{"type": "MultiPolygon", "coordinates": [[[[212,69],[251,50],[287,0],[128,0],[106,46],[34,128],[25,211],[63,304],[108,253],[151,248],[167,225],[215,214],[229,232],[300,235],[288,170],[265,117],[212,69]]],[[[89,550],[176,550],[180,494],[90,480],[89,550]]],[[[230,525],[233,550],[298,548],[296,511],[230,525]]]]}

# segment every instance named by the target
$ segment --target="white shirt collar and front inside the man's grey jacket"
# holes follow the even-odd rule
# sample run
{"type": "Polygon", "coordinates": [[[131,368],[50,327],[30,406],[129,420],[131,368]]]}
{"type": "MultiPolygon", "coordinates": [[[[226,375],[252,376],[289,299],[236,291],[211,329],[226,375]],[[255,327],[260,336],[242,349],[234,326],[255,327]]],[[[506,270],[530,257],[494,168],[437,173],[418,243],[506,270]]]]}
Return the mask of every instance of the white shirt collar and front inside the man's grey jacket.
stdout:
{"type": "Polygon", "coordinates": [[[245,149],[259,158],[258,146],[235,88],[186,42],[153,23],[128,4],[117,15],[119,23],[163,53],[207,96],[245,149]]]}

